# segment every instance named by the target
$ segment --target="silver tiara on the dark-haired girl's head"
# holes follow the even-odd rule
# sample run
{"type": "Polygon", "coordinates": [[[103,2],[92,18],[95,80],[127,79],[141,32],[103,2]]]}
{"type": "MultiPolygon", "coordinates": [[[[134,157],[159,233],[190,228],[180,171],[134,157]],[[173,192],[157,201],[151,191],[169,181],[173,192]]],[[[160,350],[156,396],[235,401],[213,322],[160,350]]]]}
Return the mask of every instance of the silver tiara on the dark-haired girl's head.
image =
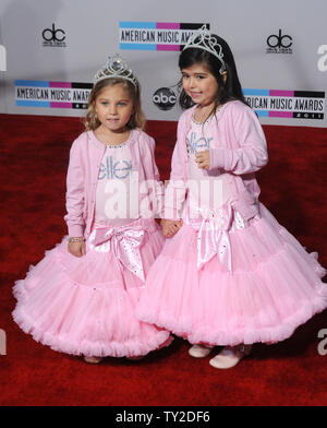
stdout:
{"type": "Polygon", "coordinates": [[[189,37],[183,50],[190,48],[203,49],[215,55],[215,57],[218,58],[221,62],[221,68],[219,70],[220,74],[226,71],[222,47],[215,37],[211,37],[211,33],[207,29],[206,25],[203,25],[199,29],[194,32],[192,36],[189,37]]]}

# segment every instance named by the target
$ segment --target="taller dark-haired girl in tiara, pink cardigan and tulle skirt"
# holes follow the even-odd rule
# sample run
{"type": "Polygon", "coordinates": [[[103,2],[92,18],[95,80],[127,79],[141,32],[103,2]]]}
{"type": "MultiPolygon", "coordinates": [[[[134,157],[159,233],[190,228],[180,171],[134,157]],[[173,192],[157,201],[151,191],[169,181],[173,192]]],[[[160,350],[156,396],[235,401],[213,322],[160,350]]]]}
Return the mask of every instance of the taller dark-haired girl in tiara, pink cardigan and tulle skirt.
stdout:
{"type": "Polygon", "coordinates": [[[243,98],[232,52],[205,27],[180,55],[187,110],[178,124],[162,219],[165,247],[137,316],[170,330],[215,368],[256,342],[289,337],[327,307],[326,271],[258,201],[266,140],[243,98]],[[191,107],[191,108],[189,108],[191,107]]]}

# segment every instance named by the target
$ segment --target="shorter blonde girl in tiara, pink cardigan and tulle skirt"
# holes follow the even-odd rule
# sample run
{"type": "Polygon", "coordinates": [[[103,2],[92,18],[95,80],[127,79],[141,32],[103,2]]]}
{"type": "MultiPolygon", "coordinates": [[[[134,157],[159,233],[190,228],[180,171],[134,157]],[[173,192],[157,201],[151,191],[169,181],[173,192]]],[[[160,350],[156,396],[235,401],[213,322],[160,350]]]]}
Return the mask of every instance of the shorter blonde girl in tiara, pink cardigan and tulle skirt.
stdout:
{"type": "Polygon", "coordinates": [[[86,131],[70,152],[69,237],[14,287],[15,322],[52,349],[135,359],[170,334],[135,317],[164,236],[155,222],[162,187],[145,132],[140,85],[114,56],[95,75],[86,131]]]}

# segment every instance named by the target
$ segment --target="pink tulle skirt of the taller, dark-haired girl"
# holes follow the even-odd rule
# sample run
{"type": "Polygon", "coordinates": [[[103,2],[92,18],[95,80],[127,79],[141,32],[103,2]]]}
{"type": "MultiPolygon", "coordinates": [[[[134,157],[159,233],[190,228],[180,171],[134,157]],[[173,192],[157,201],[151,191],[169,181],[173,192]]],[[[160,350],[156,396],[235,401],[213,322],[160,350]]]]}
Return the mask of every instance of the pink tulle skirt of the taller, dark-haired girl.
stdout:
{"type": "Polygon", "coordinates": [[[197,233],[184,224],[150,269],[137,317],[193,344],[279,342],[327,307],[326,271],[261,204],[230,235],[232,272],[216,257],[197,270],[197,233]]]}

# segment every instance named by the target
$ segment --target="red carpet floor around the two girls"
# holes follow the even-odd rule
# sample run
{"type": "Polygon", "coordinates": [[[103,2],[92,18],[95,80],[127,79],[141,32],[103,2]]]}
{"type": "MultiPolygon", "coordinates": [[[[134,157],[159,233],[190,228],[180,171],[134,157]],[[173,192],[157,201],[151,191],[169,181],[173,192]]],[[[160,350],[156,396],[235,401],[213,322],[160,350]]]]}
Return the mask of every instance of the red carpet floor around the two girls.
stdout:
{"type": "MultiPolygon", "coordinates": [[[[175,127],[148,122],[162,179],[175,127]]],[[[189,357],[179,338],[138,362],[108,358],[90,366],[19,329],[11,289],[65,234],[69,150],[82,130],[76,118],[0,115],[0,329],[7,333],[0,405],[327,405],[327,355],[317,352],[327,311],[288,341],[255,345],[250,358],[227,371],[211,368],[209,358],[189,357]]],[[[327,130],[267,126],[265,132],[270,163],[257,174],[261,200],[327,266],[327,130]]]]}

